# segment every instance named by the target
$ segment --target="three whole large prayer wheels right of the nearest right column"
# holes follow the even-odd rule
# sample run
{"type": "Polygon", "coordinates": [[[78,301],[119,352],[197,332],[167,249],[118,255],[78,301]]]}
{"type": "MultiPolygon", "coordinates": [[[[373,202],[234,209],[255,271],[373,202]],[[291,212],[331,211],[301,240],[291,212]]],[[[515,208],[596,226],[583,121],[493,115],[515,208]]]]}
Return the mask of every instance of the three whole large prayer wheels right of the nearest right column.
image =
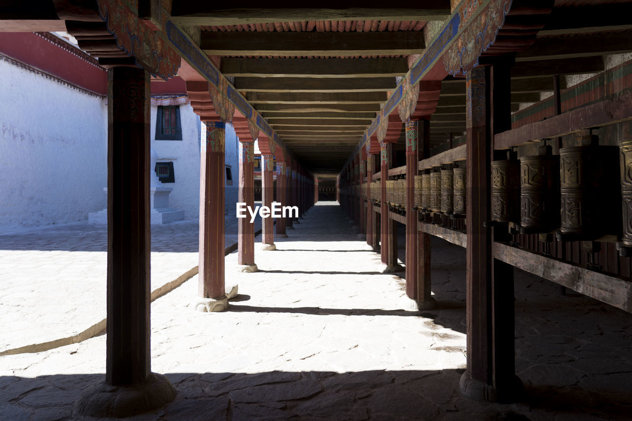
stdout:
{"type": "MultiPolygon", "coordinates": [[[[595,240],[621,232],[619,148],[586,135],[581,146],[540,146],[538,155],[494,160],[492,221],[522,234],[557,230],[559,240],[595,240]]],[[[623,172],[623,171],[622,171],[623,172]]],[[[632,243],[631,243],[632,244],[632,243]]]]}

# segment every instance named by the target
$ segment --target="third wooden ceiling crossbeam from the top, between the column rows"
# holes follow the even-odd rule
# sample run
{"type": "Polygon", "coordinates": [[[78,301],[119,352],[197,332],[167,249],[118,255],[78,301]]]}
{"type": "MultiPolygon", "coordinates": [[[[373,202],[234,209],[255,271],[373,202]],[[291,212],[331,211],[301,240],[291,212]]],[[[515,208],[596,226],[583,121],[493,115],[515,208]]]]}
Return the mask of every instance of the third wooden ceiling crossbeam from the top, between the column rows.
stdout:
{"type": "Polygon", "coordinates": [[[224,76],[302,78],[380,78],[408,72],[405,58],[281,59],[222,58],[224,76]]]}

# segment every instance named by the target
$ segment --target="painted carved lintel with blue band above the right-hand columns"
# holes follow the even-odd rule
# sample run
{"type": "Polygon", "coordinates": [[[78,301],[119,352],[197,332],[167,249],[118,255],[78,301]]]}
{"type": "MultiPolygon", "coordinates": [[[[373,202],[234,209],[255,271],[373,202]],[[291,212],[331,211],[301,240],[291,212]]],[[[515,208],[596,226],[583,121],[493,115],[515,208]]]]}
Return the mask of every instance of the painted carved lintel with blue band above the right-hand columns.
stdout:
{"type": "MultiPolygon", "coordinates": [[[[504,17],[511,9],[512,0],[463,0],[454,9],[444,28],[430,43],[423,54],[403,76],[391,93],[386,104],[375,116],[362,140],[349,155],[347,163],[361,148],[368,148],[369,139],[383,126],[380,122],[388,120],[395,107],[402,121],[410,118],[415,111],[419,95],[418,83],[441,59],[450,74],[465,73],[478,64],[478,58],[494,44],[495,37],[504,24],[504,17]]],[[[380,138],[380,131],[377,133],[380,138]]]]}

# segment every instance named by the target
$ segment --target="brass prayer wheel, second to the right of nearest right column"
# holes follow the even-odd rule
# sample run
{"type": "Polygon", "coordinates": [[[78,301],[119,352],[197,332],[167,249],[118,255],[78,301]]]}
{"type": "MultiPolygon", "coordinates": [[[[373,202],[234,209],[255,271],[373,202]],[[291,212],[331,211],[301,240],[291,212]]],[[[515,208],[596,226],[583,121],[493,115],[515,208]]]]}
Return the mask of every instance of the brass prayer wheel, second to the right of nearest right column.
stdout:
{"type": "Polygon", "coordinates": [[[559,156],[551,146],[540,155],[520,158],[520,226],[523,234],[546,233],[559,227],[559,156]]]}

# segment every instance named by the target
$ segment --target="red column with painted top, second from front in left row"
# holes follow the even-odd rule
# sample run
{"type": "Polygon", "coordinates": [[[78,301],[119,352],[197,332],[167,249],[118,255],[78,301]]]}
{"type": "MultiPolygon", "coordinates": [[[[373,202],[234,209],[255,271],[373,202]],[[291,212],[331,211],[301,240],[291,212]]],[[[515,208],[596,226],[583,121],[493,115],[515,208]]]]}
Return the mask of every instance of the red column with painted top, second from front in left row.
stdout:
{"type": "MultiPolygon", "coordinates": [[[[226,124],[207,121],[200,154],[200,263],[198,295],[222,299],[224,285],[224,138],[226,124]]],[[[221,308],[217,308],[221,310],[221,308]]]]}

